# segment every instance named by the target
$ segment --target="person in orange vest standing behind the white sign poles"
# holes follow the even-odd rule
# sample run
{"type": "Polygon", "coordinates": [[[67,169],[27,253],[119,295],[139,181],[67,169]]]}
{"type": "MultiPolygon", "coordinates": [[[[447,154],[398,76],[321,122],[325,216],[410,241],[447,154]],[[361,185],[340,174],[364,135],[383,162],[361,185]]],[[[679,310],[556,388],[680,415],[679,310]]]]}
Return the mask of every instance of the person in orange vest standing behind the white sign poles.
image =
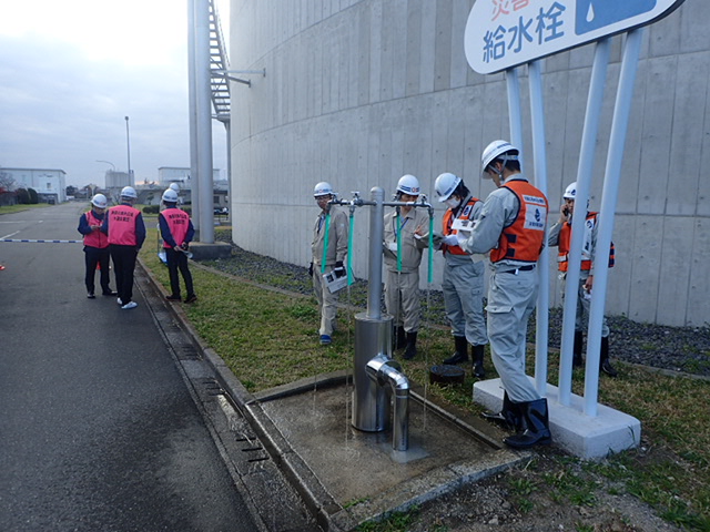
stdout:
{"type": "MultiPolygon", "coordinates": [[[[552,227],[547,238],[549,246],[557,246],[557,267],[559,269],[559,278],[562,282],[562,299],[565,298],[565,284],[567,279],[567,266],[569,264],[569,248],[572,236],[571,218],[575,213],[575,196],[577,195],[577,182],[571,183],[562,198],[565,203],[560,207],[559,219],[552,227]]],[[[597,247],[597,227],[599,225],[599,213],[587,211],[585,221],[585,239],[581,249],[581,268],[579,272],[579,289],[577,294],[577,314],[575,318],[575,344],[574,344],[574,366],[582,365],[581,348],[584,341],[584,331],[588,323],[589,306],[591,304],[591,288],[594,286],[594,259],[595,249],[597,247]],[[587,317],[587,319],[585,319],[587,317]]],[[[609,252],[609,267],[613,266],[615,249],[611,244],[609,252]]],[[[617,370],[609,361],[609,327],[607,318],[601,323],[601,352],[599,356],[599,369],[610,377],[618,375],[617,370]]]]}

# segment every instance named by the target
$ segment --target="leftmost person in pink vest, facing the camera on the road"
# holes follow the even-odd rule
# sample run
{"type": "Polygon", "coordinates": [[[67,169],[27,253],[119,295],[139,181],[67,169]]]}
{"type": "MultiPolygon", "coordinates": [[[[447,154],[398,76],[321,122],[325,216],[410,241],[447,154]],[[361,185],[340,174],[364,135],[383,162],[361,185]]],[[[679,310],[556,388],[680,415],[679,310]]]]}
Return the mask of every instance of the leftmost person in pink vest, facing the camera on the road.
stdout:
{"type": "Polygon", "coordinates": [[[91,198],[91,211],[81,215],[79,227],[77,227],[77,231],[84,235],[84,263],[87,265],[84,283],[89,299],[97,297],[94,295],[97,265],[101,270],[101,294],[104,296],[118,295],[109,286],[109,238],[101,233],[108,203],[106,196],[103,194],[94,195],[91,198]]]}

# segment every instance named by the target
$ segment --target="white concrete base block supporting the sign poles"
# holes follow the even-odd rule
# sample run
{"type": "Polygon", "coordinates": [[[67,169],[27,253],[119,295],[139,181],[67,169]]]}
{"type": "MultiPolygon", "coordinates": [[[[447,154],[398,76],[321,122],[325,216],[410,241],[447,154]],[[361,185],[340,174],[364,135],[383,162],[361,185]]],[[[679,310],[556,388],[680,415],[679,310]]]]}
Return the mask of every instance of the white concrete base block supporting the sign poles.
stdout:
{"type": "MultiPolygon", "coordinates": [[[[503,408],[503,392],[500,379],[474,383],[474,401],[491,411],[503,408]]],[[[635,417],[604,405],[598,406],[596,417],[590,417],[584,413],[582,397],[572,393],[568,407],[560,405],[558,398],[558,388],[548,383],[547,405],[554,444],[587,460],[639,446],[641,422],[635,417]]]]}

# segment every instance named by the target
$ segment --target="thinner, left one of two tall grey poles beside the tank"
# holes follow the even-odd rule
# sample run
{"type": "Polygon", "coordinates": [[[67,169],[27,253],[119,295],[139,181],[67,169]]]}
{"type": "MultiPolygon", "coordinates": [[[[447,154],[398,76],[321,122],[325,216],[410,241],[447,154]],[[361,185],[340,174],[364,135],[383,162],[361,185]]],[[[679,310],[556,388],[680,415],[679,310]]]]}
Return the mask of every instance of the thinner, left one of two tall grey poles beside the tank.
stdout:
{"type": "Polygon", "coordinates": [[[190,122],[190,201],[192,223],[200,239],[200,187],[197,176],[197,82],[195,74],[195,0],[187,0],[187,95],[190,122]]]}

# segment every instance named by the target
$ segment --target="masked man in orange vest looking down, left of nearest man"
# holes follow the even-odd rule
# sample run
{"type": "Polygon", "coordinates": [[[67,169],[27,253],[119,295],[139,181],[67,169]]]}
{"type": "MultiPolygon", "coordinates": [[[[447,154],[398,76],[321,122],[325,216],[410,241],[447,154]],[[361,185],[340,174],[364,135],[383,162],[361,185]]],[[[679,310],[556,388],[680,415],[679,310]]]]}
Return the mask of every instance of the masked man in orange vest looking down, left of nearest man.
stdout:
{"type": "Polygon", "coordinates": [[[484,349],[488,344],[484,318],[484,273],[479,257],[458,245],[458,233],[454,224],[471,223],[476,219],[483,202],[474,197],[460,177],[445,172],[434,182],[438,201],[448,207],[442,218],[442,235],[435,235],[435,245],[444,253],[442,293],[446,317],[454,336],[454,354],[444,364],[468,361],[468,344],[471,345],[473,372],[479,379],[486,377],[484,349]]]}

